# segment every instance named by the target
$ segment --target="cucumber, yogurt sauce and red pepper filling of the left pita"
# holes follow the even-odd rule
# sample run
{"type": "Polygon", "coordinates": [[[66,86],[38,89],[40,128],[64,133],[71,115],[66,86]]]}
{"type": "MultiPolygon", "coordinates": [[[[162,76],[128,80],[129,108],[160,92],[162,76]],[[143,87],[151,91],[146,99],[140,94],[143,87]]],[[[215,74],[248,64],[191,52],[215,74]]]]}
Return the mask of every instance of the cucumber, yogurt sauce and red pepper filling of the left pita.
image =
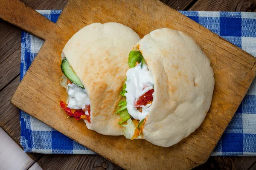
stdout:
{"type": "Polygon", "coordinates": [[[61,77],[61,85],[67,91],[67,100],[66,102],[61,101],[61,108],[64,109],[68,116],[77,120],[84,119],[90,123],[89,96],[66,58],[62,59],[61,71],[64,74],[61,77]]]}

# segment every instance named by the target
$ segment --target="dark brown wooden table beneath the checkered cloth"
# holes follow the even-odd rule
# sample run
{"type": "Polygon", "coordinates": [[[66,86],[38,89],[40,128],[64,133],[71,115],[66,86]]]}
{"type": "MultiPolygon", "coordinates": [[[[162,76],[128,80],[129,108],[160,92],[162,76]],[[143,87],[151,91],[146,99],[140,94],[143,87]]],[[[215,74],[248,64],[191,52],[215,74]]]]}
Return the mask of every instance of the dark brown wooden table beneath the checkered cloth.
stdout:
{"type": "MultiPolygon", "coordinates": [[[[34,9],[63,9],[67,0],[22,0],[34,9]]],[[[162,0],[176,10],[254,11],[256,0],[162,0]]],[[[19,110],[9,100],[20,82],[21,30],[0,20],[0,126],[20,144],[19,110]]],[[[44,170],[122,169],[98,155],[28,153],[44,170]]],[[[255,170],[256,157],[213,157],[195,169],[255,170]]]]}

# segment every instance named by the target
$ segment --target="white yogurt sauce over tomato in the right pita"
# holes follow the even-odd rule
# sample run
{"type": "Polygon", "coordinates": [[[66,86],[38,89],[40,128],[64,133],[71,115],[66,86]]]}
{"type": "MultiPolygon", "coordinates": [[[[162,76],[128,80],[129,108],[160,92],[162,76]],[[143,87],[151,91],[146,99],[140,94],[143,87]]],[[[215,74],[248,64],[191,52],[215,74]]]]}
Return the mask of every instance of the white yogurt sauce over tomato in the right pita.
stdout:
{"type": "Polygon", "coordinates": [[[154,81],[151,72],[148,70],[148,66],[143,64],[141,68],[141,63],[136,65],[134,68],[130,68],[126,72],[126,102],[128,113],[138,120],[145,119],[147,116],[151,104],[140,106],[142,107],[142,112],[135,108],[134,104],[137,102],[140,96],[145,94],[147,91],[153,89],[154,81]]]}

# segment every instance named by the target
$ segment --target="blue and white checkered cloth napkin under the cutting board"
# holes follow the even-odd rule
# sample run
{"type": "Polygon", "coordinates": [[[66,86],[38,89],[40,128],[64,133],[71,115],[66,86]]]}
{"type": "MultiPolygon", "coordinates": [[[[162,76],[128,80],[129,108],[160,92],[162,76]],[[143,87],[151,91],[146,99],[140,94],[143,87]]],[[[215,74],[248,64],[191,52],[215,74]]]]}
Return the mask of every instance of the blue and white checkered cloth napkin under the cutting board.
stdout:
{"type": "MultiPolygon", "coordinates": [[[[56,22],[60,10],[38,10],[56,22]]],[[[180,11],[256,57],[256,13],[180,11]]],[[[43,45],[31,34],[22,32],[20,77],[43,45]]],[[[26,152],[95,154],[38,119],[20,111],[20,144],[26,152]]],[[[256,156],[256,80],[253,81],[232,121],[225,130],[212,156],[256,156]]]]}

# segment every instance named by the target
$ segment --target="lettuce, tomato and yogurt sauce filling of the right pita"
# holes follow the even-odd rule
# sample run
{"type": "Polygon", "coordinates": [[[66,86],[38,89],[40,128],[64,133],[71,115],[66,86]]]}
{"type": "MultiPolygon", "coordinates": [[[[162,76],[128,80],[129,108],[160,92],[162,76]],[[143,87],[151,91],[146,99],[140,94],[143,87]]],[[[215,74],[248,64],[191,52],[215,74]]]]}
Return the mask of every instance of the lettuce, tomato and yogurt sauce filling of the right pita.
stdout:
{"type": "Polygon", "coordinates": [[[130,69],[126,72],[126,81],[121,95],[125,101],[119,102],[119,113],[126,127],[125,137],[140,139],[145,118],[150,111],[154,96],[154,80],[140,51],[131,51],[128,58],[130,69]]]}

